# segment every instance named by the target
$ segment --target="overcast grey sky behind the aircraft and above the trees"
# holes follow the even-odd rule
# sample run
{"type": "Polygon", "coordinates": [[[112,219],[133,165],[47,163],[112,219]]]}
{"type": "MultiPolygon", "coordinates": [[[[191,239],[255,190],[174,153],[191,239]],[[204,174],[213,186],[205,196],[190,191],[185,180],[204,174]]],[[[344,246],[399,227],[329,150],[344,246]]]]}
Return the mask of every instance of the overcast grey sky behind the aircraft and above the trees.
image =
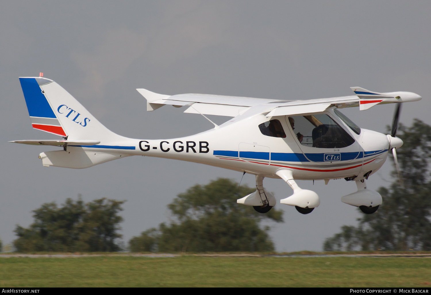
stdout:
{"type": "MultiPolygon", "coordinates": [[[[212,128],[184,108],[146,111],[135,88],[162,94],[206,93],[275,99],[351,95],[349,87],[412,91],[401,122],[431,124],[429,1],[2,1],[0,2],[0,239],[15,239],[31,210],[82,194],[127,200],[125,242],[169,220],[166,204],[188,187],[241,173],[196,163],[128,157],[87,169],[43,167],[55,148],[11,144],[54,135],[31,128],[19,76],[58,82],[107,128],[133,138],[172,138],[212,128]]],[[[385,132],[393,105],[345,110],[359,126],[385,132]]],[[[222,121],[220,118],[212,118],[222,121]]],[[[391,160],[369,179],[388,185],[391,160]]],[[[254,185],[254,177],[243,183],[254,185]]],[[[264,185],[279,200],[281,179],[264,185]]],[[[321,250],[324,238],[360,215],[340,197],[356,190],[344,179],[300,182],[321,205],[309,215],[278,204],[285,223],[272,225],[278,251],[321,250]]]]}

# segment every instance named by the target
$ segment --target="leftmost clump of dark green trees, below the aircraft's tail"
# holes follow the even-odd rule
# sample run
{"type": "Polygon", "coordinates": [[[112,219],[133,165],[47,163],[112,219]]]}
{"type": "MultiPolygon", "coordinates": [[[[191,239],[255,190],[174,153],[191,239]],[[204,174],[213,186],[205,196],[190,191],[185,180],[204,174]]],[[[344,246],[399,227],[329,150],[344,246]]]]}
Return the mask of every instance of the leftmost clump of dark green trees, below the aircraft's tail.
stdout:
{"type": "Polygon", "coordinates": [[[29,228],[16,226],[18,236],[13,242],[17,252],[93,252],[120,251],[117,231],[123,218],[124,201],[102,198],[84,204],[81,198],[57,207],[55,202],[45,203],[33,210],[34,223],[29,228]]]}

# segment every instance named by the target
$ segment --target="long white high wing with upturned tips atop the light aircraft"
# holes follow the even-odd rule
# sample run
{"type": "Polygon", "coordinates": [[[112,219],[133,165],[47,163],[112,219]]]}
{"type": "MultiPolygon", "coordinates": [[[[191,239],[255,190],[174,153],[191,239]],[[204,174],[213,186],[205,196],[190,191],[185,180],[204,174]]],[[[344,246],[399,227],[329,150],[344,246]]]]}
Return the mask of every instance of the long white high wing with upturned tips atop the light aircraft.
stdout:
{"type": "Polygon", "coordinates": [[[319,98],[311,100],[275,100],[253,97],[235,97],[211,94],[157,94],[146,89],[137,89],[147,99],[147,110],[156,110],[166,104],[174,107],[189,106],[184,113],[236,117],[251,107],[262,105],[267,117],[300,113],[322,112],[329,107],[358,107],[367,110],[377,104],[421,100],[418,94],[405,91],[379,93],[360,87],[351,88],[356,95],[319,98]]]}

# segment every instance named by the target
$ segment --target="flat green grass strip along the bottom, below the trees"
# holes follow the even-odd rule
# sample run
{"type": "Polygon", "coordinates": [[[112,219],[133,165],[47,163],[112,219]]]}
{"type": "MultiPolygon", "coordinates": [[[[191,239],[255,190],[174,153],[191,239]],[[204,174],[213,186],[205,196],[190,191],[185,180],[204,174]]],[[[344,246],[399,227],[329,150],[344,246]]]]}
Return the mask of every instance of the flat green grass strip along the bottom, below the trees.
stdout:
{"type": "Polygon", "coordinates": [[[0,287],[430,287],[418,257],[0,257],[0,287]]]}

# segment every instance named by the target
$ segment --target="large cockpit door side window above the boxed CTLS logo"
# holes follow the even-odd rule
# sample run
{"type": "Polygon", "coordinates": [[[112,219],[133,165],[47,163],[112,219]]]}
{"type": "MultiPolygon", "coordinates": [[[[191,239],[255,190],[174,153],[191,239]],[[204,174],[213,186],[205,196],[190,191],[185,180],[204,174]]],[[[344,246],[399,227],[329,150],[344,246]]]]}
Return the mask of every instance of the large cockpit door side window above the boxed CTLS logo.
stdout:
{"type": "Polygon", "coordinates": [[[290,116],[298,141],[313,148],[345,148],[355,140],[326,114],[290,116]]]}

